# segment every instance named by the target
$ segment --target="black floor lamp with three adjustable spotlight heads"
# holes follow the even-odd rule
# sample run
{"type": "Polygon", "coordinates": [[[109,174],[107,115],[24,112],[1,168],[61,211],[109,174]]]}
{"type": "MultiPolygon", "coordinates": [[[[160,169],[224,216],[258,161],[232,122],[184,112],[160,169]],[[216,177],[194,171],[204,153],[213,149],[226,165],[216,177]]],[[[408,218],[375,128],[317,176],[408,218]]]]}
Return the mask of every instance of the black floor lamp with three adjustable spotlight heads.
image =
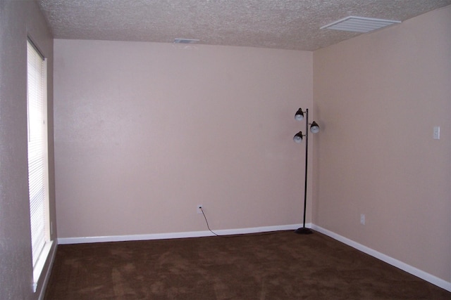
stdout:
{"type": "Polygon", "coordinates": [[[304,119],[304,113],[305,113],[305,134],[302,134],[302,131],[299,131],[295,134],[293,137],[293,141],[295,143],[301,143],[302,138],[305,136],[305,182],[304,182],[304,219],[303,219],[303,225],[301,228],[297,228],[295,230],[295,233],[298,233],[299,235],[309,235],[313,233],[313,231],[310,228],[305,227],[305,211],[307,209],[307,162],[308,160],[308,154],[309,154],[309,125],[310,125],[310,131],[311,133],[318,133],[319,132],[319,126],[316,124],[316,122],[312,122],[309,124],[309,109],[307,108],[305,111],[302,111],[302,108],[299,108],[297,110],[295,119],[297,121],[302,121],[304,119]]]}

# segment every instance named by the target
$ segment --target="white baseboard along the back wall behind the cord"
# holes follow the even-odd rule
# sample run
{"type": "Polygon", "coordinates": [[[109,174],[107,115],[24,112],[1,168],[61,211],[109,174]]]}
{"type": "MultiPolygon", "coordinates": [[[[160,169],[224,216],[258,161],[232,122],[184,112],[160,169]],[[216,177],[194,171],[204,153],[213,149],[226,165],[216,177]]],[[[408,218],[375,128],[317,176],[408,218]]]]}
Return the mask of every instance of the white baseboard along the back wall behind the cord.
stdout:
{"type": "MultiPolygon", "coordinates": [[[[213,230],[218,235],[241,235],[246,233],[265,233],[269,231],[278,230],[295,230],[301,227],[302,224],[291,224],[281,226],[264,226],[253,228],[237,228],[237,229],[223,229],[213,230]]],[[[310,227],[310,224],[306,224],[310,227]]],[[[82,244],[89,242],[124,242],[131,240],[164,240],[164,239],[176,239],[183,237],[208,237],[213,236],[209,230],[206,231],[190,231],[181,233],[152,233],[148,235],[109,235],[101,237],[61,237],[58,238],[58,244],[82,244]]]]}

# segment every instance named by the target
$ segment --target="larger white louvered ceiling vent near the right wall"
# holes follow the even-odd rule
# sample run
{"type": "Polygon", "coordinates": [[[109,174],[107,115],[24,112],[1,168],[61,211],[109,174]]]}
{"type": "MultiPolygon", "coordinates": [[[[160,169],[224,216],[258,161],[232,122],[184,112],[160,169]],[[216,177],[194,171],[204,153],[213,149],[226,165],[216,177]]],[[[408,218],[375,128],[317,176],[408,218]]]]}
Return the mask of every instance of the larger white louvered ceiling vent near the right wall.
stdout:
{"type": "Polygon", "coordinates": [[[401,21],[362,18],[362,17],[347,17],[329,25],[321,27],[321,29],[329,30],[343,30],[350,32],[370,32],[378,30],[379,28],[400,23],[401,21]]]}

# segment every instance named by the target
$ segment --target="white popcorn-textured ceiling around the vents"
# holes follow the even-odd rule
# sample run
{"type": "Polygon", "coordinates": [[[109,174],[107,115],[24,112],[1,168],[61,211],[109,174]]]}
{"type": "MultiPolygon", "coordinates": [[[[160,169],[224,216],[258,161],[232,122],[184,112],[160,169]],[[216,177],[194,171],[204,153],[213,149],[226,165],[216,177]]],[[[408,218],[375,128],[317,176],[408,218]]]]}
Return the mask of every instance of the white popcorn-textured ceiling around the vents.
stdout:
{"type": "MultiPolygon", "coordinates": [[[[404,21],[451,0],[36,0],[56,39],[313,51],[359,35],[320,30],[350,15],[404,21]]],[[[396,26],[396,25],[395,25],[396,26]]]]}

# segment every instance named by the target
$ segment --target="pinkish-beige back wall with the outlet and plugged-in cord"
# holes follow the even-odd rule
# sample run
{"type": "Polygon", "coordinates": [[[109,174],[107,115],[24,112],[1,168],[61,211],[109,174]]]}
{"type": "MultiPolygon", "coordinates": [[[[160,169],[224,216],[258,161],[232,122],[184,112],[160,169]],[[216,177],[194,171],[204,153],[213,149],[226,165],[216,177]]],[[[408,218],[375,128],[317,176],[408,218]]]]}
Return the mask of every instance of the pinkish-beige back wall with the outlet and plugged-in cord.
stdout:
{"type": "Polygon", "coordinates": [[[302,221],[311,52],[54,41],[58,237],[302,221]],[[299,167],[301,166],[301,167],[299,167]]]}

